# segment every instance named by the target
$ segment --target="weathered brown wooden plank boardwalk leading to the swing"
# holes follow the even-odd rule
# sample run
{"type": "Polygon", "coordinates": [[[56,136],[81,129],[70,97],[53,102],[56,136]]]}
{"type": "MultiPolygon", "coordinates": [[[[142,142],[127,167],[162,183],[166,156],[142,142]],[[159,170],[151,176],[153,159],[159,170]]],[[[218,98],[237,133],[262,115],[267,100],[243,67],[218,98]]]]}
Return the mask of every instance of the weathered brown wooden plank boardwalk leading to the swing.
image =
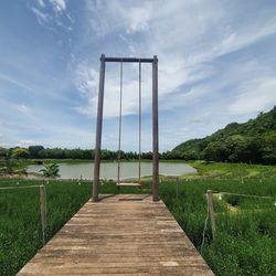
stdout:
{"type": "Polygon", "coordinates": [[[162,201],[119,194],[87,202],[18,275],[213,273],[162,201]]]}

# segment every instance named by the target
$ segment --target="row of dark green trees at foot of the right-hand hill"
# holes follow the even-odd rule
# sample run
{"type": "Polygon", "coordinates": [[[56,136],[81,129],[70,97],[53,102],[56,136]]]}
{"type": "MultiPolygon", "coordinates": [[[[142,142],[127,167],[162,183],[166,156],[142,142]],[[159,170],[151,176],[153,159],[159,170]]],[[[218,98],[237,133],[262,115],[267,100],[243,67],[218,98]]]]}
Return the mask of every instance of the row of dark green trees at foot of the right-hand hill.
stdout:
{"type": "Polygon", "coordinates": [[[276,164],[276,136],[230,136],[225,140],[198,140],[192,147],[166,152],[166,159],[276,164]]]}

